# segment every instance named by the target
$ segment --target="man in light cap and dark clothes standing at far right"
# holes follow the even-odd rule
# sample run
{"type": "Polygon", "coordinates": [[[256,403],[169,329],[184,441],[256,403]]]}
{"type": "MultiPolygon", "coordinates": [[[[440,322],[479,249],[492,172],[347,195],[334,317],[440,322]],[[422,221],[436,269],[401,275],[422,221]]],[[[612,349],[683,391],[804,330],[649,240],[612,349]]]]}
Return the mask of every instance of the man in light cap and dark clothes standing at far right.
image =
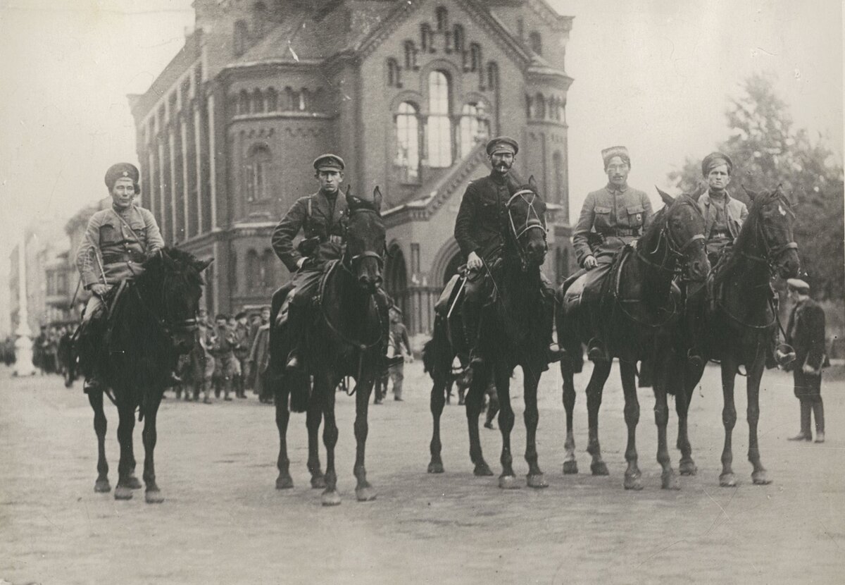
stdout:
{"type": "Polygon", "coordinates": [[[801,402],[801,432],[789,440],[812,440],[810,412],[815,417],[815,442],[825,442],[825,405],[821,402],[821,365],[825,361],[825,311],[810,298],[810,285],[787,280],[795,303],[787,325],[787,343],[795,349],[793,380],[801,402]]]}

